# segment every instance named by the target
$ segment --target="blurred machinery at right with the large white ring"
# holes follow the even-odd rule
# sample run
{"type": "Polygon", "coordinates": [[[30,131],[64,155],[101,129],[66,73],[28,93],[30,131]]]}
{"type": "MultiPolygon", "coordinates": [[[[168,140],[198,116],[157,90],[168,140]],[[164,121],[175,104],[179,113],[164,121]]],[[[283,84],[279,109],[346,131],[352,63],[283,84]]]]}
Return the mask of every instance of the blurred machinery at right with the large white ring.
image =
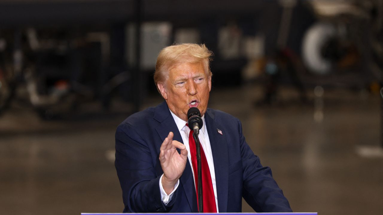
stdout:
{"type": "MultiPolygon", "coordinates": [[[[307,101],[306,86],[367,88],[377,93],[383,75],[382,0],[280,0],[282,15],[275,53],[267,56],[264,98],[270,103],[278,86],[289,80],[307,101]],[[300,49],[291,46],[293,20],[304,5],[313,22],[303,30],[300,49]],[[283,77],[284,76],[284,77],[283,77]],[[287,78],[286,78],[287,77],[287,78]]],[[[305,17],[303,17],[305,18],[305,17]]],[[[296,31],[296,30],[295,30],[296,31]]],[[[296,34],[295,34],[296,36],[296,34]]]]}

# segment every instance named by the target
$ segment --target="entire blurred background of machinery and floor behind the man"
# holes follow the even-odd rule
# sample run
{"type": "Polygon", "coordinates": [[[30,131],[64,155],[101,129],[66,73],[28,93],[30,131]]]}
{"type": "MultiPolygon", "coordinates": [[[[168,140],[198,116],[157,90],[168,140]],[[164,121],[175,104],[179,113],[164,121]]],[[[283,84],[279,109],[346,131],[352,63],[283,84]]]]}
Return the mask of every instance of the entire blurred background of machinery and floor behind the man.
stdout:
{"type": "Polygon", "coordinates": [[[0,213],[122,212],[115,129],[175,42],[294,212],[381,214],[383,0],[0,0],[0,213]]]}

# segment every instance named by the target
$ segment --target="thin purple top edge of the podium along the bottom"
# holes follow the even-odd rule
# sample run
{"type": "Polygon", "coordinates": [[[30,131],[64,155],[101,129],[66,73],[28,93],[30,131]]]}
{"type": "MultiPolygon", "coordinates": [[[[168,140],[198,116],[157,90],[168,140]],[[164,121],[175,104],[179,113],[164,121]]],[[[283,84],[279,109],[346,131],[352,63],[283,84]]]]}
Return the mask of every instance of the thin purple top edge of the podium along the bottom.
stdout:
{"type": "MultiPolygon", "coordinates": [[[[179,215],[197,215],[197,214],[214,214],[214,213],[81,213],[81,215],[159,215],[159,214],[179,214],[179,215]]],[[[219,215],[255,215],[255,214],[272,214],[272,215],[318,215],[318,213],[217,213],[219,215]]]]}

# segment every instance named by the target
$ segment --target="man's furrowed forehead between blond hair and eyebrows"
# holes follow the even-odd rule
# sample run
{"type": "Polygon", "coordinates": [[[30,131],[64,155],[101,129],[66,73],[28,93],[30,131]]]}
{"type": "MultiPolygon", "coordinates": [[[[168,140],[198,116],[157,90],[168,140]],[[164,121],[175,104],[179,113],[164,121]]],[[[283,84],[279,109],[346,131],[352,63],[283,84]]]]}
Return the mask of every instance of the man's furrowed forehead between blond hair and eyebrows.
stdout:
{"type": "Polygon", "coordinates": [[[190,78],[195,76],[206,75],[205,67],[202,62],[190,63],[183,62],[173,65],[169,69],[169,78],[190,78]]]}

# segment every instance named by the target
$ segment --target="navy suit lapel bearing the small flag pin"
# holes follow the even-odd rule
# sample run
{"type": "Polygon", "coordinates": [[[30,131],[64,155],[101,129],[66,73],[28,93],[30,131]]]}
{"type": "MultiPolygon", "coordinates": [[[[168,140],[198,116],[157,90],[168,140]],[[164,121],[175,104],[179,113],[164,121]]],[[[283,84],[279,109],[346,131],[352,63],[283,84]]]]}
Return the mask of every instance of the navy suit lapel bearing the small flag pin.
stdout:
{"type": "Polygon", "coordinates": [[[229,154],[226,141],[226,132],[223,126],[214,121],[211,111],[205,114],[206,129],[208,130],[211,152],[213,154],[214,170],[216,177],[218,210],[226,212],[228,208],[228,187],[229,187],[229,154]],[[218,133],[221,130],[223,135],[218,133]]]}

